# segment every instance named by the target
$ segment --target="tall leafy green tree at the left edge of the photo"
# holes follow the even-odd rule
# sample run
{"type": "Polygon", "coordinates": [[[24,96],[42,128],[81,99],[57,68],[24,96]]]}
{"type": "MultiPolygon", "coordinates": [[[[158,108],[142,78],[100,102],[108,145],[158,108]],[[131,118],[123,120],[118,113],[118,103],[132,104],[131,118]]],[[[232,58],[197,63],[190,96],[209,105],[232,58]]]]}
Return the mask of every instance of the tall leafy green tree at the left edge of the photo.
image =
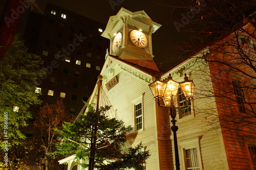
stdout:
{"type": "Polygon", "coordinates": [[[29,107],[40,103],[35,87],[36,77],[45,74],[41,65],[40,57],[28,53],[24,41],[20,40],[19,36],[15,37],[0,62],[1,135],[4,134],[4,113],[8,113],[8,138],[11,145],[19,144],[20,139],[25,138],[20,132],[20,127],[27,126],[26,120],[31,118],[29,107]],[[17,112],[13,111],[15,106],[19,108],[17,112]]]}

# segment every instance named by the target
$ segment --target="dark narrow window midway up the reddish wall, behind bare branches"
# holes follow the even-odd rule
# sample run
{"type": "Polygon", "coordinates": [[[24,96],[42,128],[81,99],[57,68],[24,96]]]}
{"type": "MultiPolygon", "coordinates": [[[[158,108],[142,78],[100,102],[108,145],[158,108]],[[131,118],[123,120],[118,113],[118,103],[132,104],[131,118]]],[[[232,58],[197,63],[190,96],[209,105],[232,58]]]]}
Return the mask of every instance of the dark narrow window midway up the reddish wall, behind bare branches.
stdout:
{"type": "Polygon", "coordinates": [[[246,113],[246,110],[244,107],[244,91],[241,88],[241,82],[232,81],[232,84],[233,84],[233,88],[234,88],[234,94],[236,95],[238,109],[240,112],[246,113]]]}

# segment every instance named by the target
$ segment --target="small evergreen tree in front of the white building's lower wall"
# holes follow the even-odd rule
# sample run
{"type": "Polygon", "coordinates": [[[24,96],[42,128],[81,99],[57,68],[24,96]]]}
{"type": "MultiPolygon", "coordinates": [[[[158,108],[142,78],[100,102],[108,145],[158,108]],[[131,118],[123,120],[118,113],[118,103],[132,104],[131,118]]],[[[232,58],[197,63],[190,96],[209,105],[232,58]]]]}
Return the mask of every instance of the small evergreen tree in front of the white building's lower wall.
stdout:
{"type": "MultiPolygon", "coordinates": [[[[141,164],[150,154],[148,151],[141,151],[141,144],[135,149],[130,148],[129,153],[120,152],[126,142],[126,133],[131,131],[132,127],[124,126],[122,120],[106,116],[106,111],[109,109],[110,106],[101,107],[97,113],[91,108],[77,119],[76,124],[65,123],[63,130],[56,129],[62,136],[60,144],[57,145],[57,153],[65,156],[75,154],[75,159],[89,160],[93,152],[92,143],[96,139],[94,161],[98,169],[123,167],[143,169],[144,166],[141,164]],[[94,134],[95,128],[97,128],[96,134],[94,134]]],[[[87,163],[81,165],[88,167],[87,163]]]]}

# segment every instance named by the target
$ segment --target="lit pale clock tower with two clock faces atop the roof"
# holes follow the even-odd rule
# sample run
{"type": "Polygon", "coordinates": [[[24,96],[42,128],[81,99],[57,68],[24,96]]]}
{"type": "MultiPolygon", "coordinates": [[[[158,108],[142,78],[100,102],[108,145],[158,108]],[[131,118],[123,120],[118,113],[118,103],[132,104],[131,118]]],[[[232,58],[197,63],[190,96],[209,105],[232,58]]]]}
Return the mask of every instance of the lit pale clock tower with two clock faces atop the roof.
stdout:
{"type": "Polygon", "coordinates": [[[144,11],[121,8],[117,15],[110,17],[101,36],[111,40],[110,55],[159,71],[153,60],[151,37],[160,27],[144,11]]]}

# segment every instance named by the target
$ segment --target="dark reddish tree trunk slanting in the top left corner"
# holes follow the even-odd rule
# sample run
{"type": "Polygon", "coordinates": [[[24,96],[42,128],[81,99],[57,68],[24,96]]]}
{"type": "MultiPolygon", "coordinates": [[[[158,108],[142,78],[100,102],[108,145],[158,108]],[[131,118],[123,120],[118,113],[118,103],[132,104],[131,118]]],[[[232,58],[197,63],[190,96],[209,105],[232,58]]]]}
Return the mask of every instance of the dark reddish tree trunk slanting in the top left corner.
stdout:
{"type": "Polygon", "coordinates": [[[0,20],[0,60],[4,57],[18,27],[20,14],[24,11],[24,0],[7,0],[0,20]]]}

